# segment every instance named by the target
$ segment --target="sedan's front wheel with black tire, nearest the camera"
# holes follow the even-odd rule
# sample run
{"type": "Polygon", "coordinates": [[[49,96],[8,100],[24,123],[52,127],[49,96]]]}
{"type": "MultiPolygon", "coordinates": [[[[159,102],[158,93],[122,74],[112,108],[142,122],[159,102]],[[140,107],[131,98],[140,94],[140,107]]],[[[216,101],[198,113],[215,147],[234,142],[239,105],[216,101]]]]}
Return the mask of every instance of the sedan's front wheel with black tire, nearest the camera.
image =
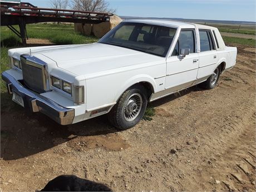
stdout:
{"type": "Polygon", "coordinates": [[[112,125],[114,125],[117,129],[120,130],[127,130],[131,127],[134,127],[143,117],[147,107],[147,92],[146,89],[141,85],[132,86],[129,88],[129,90],[125,91],[122,96],[120,97],[119,101],[117,101],[117,104],[111,109],[111,111],[108,114],[109,121],[112,125]],[[141,101],[140,102],[132,102],[134,100],[141,101]],[[129,104],[129,105],[127,105],[129,104]],[[140,106],[136,109],[136,106],[140,106]],[[136,112],[135,110],[138,110],[137,114],[134,115],[135,119],[132,119],[127,117],[125,112],[129,112],[129,110],[132,110],[133,112],[136,112]],[[129,119],[129,120],[127,120],[129,119]]]}

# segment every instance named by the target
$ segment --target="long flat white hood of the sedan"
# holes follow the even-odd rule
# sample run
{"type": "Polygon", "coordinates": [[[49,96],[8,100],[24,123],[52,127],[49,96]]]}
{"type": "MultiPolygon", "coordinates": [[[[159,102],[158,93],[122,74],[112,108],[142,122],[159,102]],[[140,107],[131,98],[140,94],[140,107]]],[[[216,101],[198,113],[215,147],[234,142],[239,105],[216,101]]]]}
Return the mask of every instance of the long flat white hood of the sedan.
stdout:
{"type": "MultiPolygon", "coordinates": [[[[151,55],[129,48],[92,43],[86,45],[32,47],[31,54],[38,53],[55,61],[57,66],[76,75],[93,76],[117,68],[165,62],[164,57],[151,55]]],[[[19,55],[28,54],[23,49],[19,55]]]]}

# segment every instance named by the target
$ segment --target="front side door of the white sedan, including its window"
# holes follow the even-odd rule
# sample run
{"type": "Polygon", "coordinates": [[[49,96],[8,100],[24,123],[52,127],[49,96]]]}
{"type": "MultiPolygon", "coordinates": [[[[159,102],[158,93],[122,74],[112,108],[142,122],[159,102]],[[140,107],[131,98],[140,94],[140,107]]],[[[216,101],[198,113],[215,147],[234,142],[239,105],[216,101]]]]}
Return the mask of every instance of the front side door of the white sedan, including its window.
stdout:
{"type": "Polygon", "coordinates": [[[166,59],[165,89],[170,92],[189,87],[196,80],[199,57],[195,46],[195,29],[182,29],[171,57],[166,59]],[[190,53],[180,59],[180,50],[189,48],[190,53]]]}

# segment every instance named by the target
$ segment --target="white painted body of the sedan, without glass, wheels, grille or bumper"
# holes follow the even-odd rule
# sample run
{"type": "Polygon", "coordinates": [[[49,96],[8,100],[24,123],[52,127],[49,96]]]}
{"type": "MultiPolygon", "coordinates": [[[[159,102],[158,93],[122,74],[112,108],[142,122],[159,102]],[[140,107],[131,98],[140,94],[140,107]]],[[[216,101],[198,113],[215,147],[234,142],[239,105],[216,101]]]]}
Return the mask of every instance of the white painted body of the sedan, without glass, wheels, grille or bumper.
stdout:
{"type": "MultiPolygon", "coordinates": [[[[136,83],[147,82],[151,85],[153,94],[150,100],[153,101],[205,81],[222,62],[225,62],[226,70],[235,65],[237,48],[226,47],[217,28],[176,21],[124,22],[177,28],[166,57],[102,43],[16,48],[9,50],[8,55],[19,60],[22,54],[31,54],[47,63],[49,75],[71,82],[73,86],[85,86],[85,104],[82,105],[74,104],[70,95],[52,86],[51,92],[41,93],[63,107],[75,109],[73,123],[106,114],[122,93],[136,83]],[[199,28],[215,31],[219,42],[216,50],[200,52],[199,28]],[[196,52],[183,60],[171,56],[181,29],[195,29],[196,34],[196,52]],[[104,113],[90,115],[92,111],[104,107],[109,107],[104,113]]],[[[214,42],[216,44],[215,38],[214,42]]],[[[22,79],[22,71],[16,67],[7,72],[17,80],[22,79]]]]}

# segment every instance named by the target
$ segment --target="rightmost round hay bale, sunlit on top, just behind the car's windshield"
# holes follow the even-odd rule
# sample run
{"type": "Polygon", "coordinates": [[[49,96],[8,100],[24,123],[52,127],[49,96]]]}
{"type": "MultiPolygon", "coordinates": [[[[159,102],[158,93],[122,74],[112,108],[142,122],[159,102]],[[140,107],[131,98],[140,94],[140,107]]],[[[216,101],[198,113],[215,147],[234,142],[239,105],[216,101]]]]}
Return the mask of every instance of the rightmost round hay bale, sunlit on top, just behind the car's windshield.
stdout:
{"type": "Polygon", "coordinates": [[[103,22],[100,24],[93,24],[92,25],[92,33],[96,37],[103,37],[109,32],[112,28],[116,27],[117,24],[121,23],[122,19],[119,16],[111,16],[109,22],[103,22]]]}

